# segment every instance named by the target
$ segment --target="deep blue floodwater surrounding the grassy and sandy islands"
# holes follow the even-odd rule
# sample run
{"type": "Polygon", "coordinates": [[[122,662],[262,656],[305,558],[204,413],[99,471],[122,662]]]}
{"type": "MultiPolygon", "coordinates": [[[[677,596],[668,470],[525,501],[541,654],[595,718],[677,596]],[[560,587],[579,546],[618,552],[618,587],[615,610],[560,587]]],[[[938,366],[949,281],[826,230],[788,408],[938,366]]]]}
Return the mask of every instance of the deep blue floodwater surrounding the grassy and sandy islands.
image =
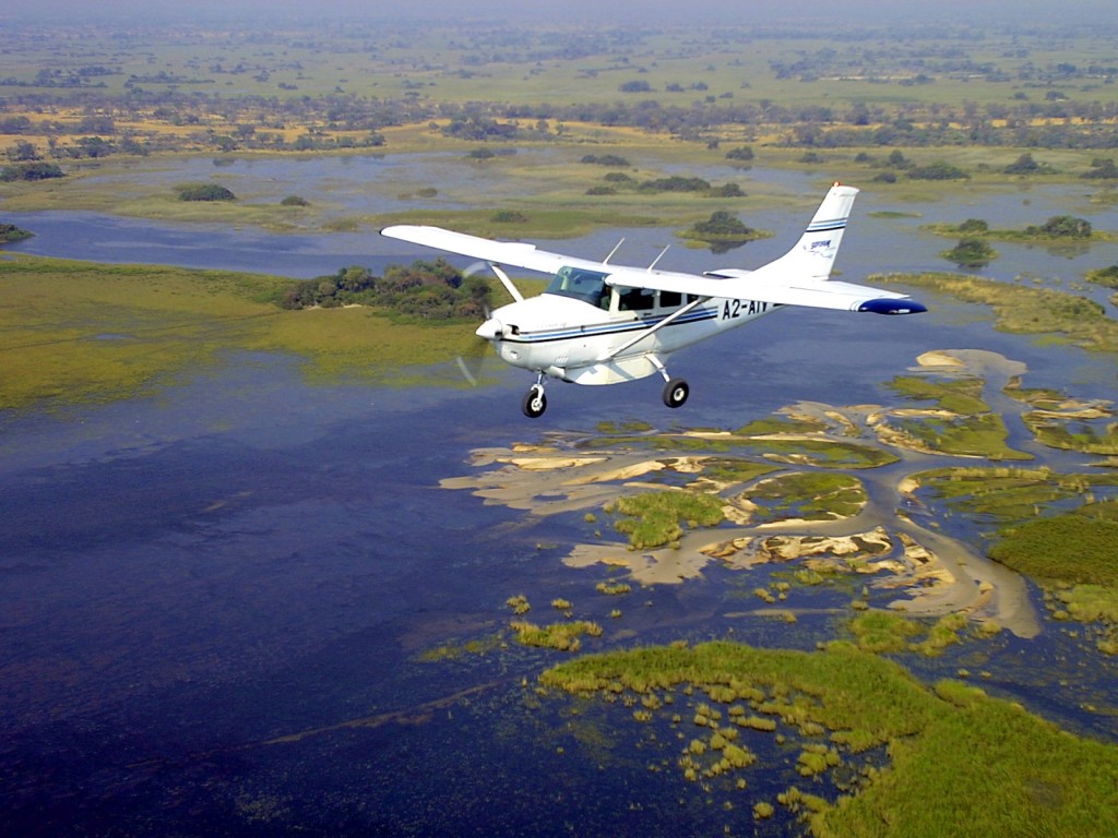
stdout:
{"type": "MultiPolygon", "coordinates": [[[[868,198],[840,256],[846,278],[946,265],[935,258],[942,240],[911,219],[866,218],[868,198]]],[[[1030,200],[1029,218],[1043,220],[1054,215],[1044,201],[1068,199],[1030,200]]],[[[928,220],[964,212],[921,210],[928,220]]],[[[756,247],[720,257],[673,248],[664,266],[764,261],[794,238],[802,215],[757,222],[778,236],[756,247]]],[[[994,220],[976,207],[961,217],[972,215],[994,220]]],[[[287,237],[88,213],[4,220],[39,234],[13,249],[106,261],[313,276],[418,256],[371,234],[287,237]]],[[[654,256],[670,231],[543,246],[600,256],[629,234],[626,247],[654,256]]],[[[1069,259],[999,249],[1006,257],[986,274],[1010,276],[1025,268],[1006,266],[1020,264],[1072,277],[1118,261],[1112,250],[1069,259]]],[[[537,697],[530,686],[559,653],[511,640],[505,600],[525,594],[540,622],[553,598],[570,600],[578,618],[606,628],[587,649],[726,636],[812,648],[840,630],[849,593],[796,592],[794,604],[815,616],[795,626],[740,616],[756,607],[750,591],[768,568],[711,563],[683,584],[597,596],[595,584],[616,574],[563,563],[593,530],[581,513],[534,517],[439,482],[470,475],[476,448],[538,444],[553,430],[627,420],[736,428],[800,401],[882,403],[890,397],[880,383],[931,349],[992,350],[1027,365],[1026,385],[1112,396],[1110,360],[1040,349],[949,301],[925,302],[932,311],[919,318],[783,312],[685,352],[673,364],[692,383],[681,411],[660,404],[655,382],[555,384],[548,415],[529,422],[518,410],[528,382],[512,373],[477,390],[311,385],[290,359],[245,354],[150,398],[0,417],[0,827],[666,836],[729,822],[748,831],[748,806],[728,815],[676,771],[650,770],[679,755],[666,731],[634,744],[620,706],[537,697]],[[610,619],[618,606],[623,616],[610,619]],[[468,641],[486,650],[424,657],[468,641]]],[[[1045,456],[1069,470],[1090,459],[1045,456]]],[[[995,694],[1118,741],[1112,716],[1081,711],[1112,705],[1114,664],[1043,616],[1035,638],[1002,632],[906,663],[929,679],[985,669],[995,694]]],[[[774,751],[750,774],[759,797],[794,779],[795,751],[774,751]]],[[[780,817],[777,834],[790,823],[780,817]]]]}

